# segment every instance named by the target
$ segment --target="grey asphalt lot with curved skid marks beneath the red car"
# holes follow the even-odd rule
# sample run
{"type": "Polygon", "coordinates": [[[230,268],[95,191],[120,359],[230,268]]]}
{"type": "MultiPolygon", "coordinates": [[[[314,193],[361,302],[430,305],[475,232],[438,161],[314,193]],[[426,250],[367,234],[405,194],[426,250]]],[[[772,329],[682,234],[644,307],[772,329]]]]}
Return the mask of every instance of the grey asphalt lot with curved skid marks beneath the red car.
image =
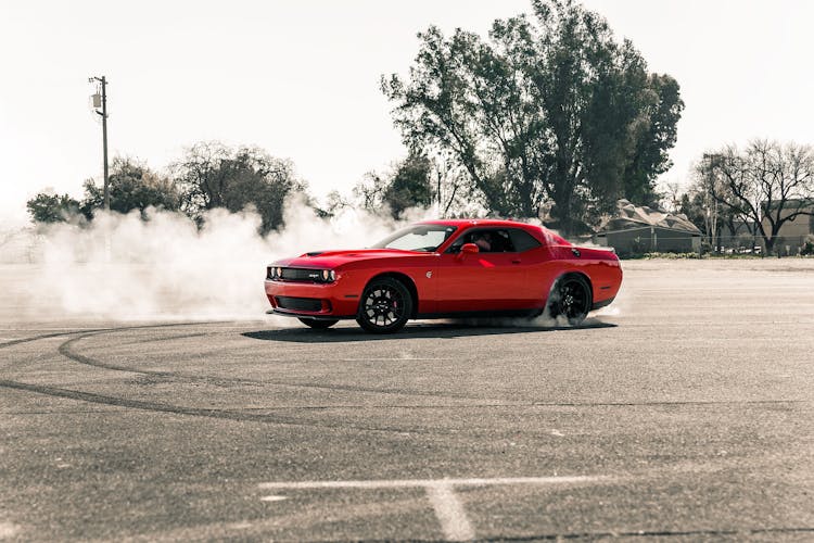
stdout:
{"type": "Polygon", "coordinates": [[[624,269],[574,329],[5,312],[0,540],[813,541],[814,261],[624,269]]]}

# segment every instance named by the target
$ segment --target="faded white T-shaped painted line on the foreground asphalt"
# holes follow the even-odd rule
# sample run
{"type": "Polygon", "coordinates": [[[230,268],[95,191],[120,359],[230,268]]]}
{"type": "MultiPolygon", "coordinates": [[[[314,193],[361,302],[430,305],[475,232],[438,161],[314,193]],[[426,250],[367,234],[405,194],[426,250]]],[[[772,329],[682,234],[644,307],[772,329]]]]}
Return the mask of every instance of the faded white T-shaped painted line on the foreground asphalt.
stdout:
{"type": "Polygon", "coordinates": [[[495,487],[506,484],[562,484],[607,480],[603,476],[564,477],[504,477],[495,479],[394,479],[369,481],[292,481],[262,482],[263,490],[323,490],[323,489],[416,489],[422,488],[435,510],[444,538],[448,541],[474,539],[474,530],[463,505],[455,495],[455,487],[495,487]]]}

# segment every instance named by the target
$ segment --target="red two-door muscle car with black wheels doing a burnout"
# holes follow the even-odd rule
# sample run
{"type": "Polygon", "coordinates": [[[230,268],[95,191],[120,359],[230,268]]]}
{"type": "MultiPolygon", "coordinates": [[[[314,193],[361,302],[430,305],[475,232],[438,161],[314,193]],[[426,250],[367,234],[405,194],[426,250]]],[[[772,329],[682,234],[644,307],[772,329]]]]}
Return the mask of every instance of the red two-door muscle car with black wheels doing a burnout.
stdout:
{"type": "Polygon", "coordinates": [[[571,324],[610,304],[622,268],[609,250],[577,248],[512,220],[428,220],[370,249],[319,251],[266,270],[269,313],[328,328],[354,318],[399,330],[411,318],[536,316],[571,324]]]}

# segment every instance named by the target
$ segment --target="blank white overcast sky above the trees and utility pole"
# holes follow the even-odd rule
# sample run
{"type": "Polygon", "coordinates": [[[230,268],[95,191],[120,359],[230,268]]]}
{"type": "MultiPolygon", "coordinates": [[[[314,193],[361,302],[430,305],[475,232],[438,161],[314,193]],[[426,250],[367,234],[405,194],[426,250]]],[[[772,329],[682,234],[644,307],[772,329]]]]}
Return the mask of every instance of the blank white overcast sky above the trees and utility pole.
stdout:
{"type": "MultiPolygon", "coordinates": [[[[814,2],[586,0],[686,102],[662,180],[704,150],[814,143],[814,2]]],[[[311,192],[347,192],[404,155],[381,74],[405,73],[430,24],[486,33],[526,0],[0,0],[0,223],[50,187],[101,177],[91,75],[109,85],[111,156],[163,168],[200,140],[290,157],[311,192]]]]}

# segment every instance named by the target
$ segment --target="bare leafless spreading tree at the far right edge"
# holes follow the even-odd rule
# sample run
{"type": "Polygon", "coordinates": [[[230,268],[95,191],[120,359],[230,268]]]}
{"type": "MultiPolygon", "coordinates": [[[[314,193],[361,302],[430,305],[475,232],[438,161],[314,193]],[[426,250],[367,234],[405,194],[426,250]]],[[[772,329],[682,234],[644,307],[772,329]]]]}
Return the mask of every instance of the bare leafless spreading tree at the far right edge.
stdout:
{"type": "Polygon", "coordinates": [[[727,146],[699,165],[713,204],[754,224],[772,253],[784,224],[813,215],[814,148],[754,140],[746,150],[727,146]]]}

